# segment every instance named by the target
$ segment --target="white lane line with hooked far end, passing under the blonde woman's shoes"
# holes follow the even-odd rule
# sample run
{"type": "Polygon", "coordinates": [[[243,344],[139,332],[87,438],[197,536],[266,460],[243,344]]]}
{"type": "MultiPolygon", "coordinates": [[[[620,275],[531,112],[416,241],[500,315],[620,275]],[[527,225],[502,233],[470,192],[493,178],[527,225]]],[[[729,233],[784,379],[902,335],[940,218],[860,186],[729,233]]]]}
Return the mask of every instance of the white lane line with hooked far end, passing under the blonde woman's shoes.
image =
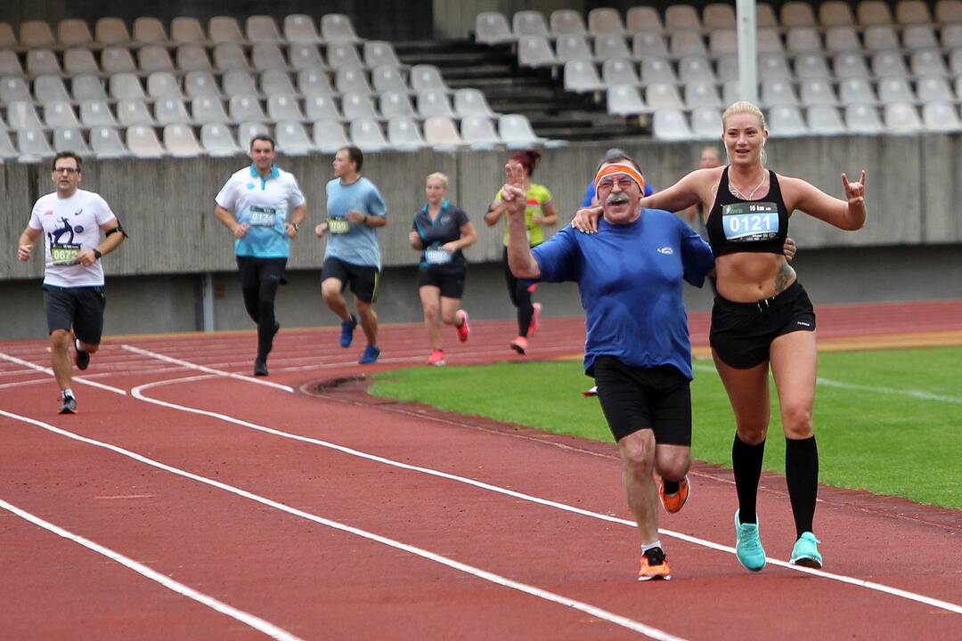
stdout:
{"type": "MultiPolygon", "coordinates": [[[[144,401],[144,402],[146,402],[146,403],[152,403],[152,404],[154,404],[154,405],[159,405],[159,406],[161,406],[161,407],[168,407],[168,408],[171,408],[171,409],[177,409],[177,410],[180,410],[180,411],[186,411],[186,412],[190,412],[190,413],[192,413],[192,414],[200,414],[200,415],[202,415],[202,416],[209,416],[209,417],[211,417],[211,418],[215,418],[215,419],[218,419],[218,420],[227,422],[227,423],[233,423],[234,425],[239,425],[239,426],[241,426],[241,427],[244,427],[244,428],[247,428],[247,429],[250,429],[250,430],[263,431],[263,432],[265,432],[265,433],[272,434],[272,435],[274,435],[274,436],[280,436],[280,437],[282,437],[282,438],[290,438],[291,440],[300,441],[300,442],[303,442],[303,443],[310,443],[310,444],[312,444],[312,445],[318,445],[318,446],[320,446],[320,447],[329,448],[329,449],[331,449],[331,450],[335,450],[335,451],[338,451],[338,452],[342,452],[343,454],[346,454],[346,455],[357,456],[357,457],[359,457],[359,458],[365,458],[365,459],[367,459],[367,460],[371,460],[371,461],[374,461],[374,462],[377,462],[377,463],[382,463],[382,464],[384,464],[384,465],[390,465],[390,466],[392,466],[392,467],[397,467],[397,468],[404,469],[404,470],[409,470],[409,471],[412,471],[412,472],[419,472],[419,473],[421,473],[421,474],[425,474],[425,475],[432,476],[432,477],[438,477],[438,478],[440,478],[440,479],[446,479],[446,480],[448,480],[448,481],[456,481],[456,482],[460,482],[460,483],[465,483],[465,484],[467,484],[467,485],[471,485],[471,486],[474,486],[474,487],[477,487],[477,488],[480,488],[480,489],[484,489],[484,490],[488,490],[488,491],[491,491],[491,492],[496,492],[496,493],[498,493],[498,494],[504,494],[504,495],[506,495],[506,496],[514,497],[514,498],[520,499],[520,500],[522,500],[522,501],[529,501],[529,502],[531,502],[531,503],[535,503],[535,504],[538,504],[538,505],[545,505],[545,506],[548,506],[548,507],[553,507],[553,508],[556,508],[556,509],[561,509],[561,510],[564,510],[564,511],[567,511],[567,512],[572,512],[572,513],[574,513],[574,514],[580,514],[581,516],[587,516],[587,517],[590,517],[590,518],[593,518],[593,519],[598,519],[598,520],[601,520],[601,521],[608,521],[608,522],[610,522],[610,523],[618,523],[618,524],[620,524],[620,525],[628,526],[628,527],[630,527],[630,528],[637,528],[637,527],[638,527],[637,524],[636,524],[634,521],[628,521],[628,520],[626,520],[626,519],[620,519],[620,518],[618,518],[618,517],[616,517],[616,516],[610,516],[610,515],[608,515],[608,514],[601,514],[601,513],[599,513],[599,512],[593,512],[593,511],[590,511],[590,510],[587,510],[587,509],[582,509],[582,508],[580,508],[580,507],[574,507],[574,506],[572,506],[572,505],[566,505],[566,504],[563,504],[563,503],[558,503],[558,502],[556,502],[556,501],[550,501],[550,500],[548,500],[548,499],[542,499],[542,498],[540,498],[540,497],[536,497],[536,496],[533,496],[533,495],[531,495],[531,494],[524,494],[524,493],[522,493],[522,492],[516,492],[515,490],[510,490],[510,489],[507,489],[507,488],[505,488],[505,487],[500,487],[500,486],[498,486],[498,485],[492,485],[491,483],[486,483],[486,482],[484,482],[484,481],[474,481],[473,479],[468,479],[467,477],[459,477],[459,476],[457,476],[457,475],[448,474],[447,472],[442,472],[442,471],[440,471],[440,470],[434,470],[434,469],[427,468],[427,467],[420,467],[420,466],[418,466],[418,465],[411,465],[411,464],[409,464],[409,463],[402,463],[401,461],[392,460],[391,458],[385,458],[385,457],[383,457],[383,456],[377,456],[377,455],[367,454],[366,452],[361,452],[360,450],[354,450],[354,449],[352,449],[352,448],[345,447],[345,446],[343,446],[343,445],[338,445],[337,443],[331,443],[330,441],[324,441],[324,440],[320,440],[320,439],[317,439],[317,438],[312,438],[312,437],[310,437],[310,436],[301,436],[301,435],[299,435],[299,434],[293,434],[293,433],[288,432],[288,431],[274,430],[273,428],[268,428],[268,427],[266,427],[266,426],[258,425],[258,424],[256,424],[256,423],[250,423],[250,422],[248,422],[248,421],[244,421],[244,420],[242,420],[242,419],[240,419],[240,418],[235,418],[235,417],[229,416],[229,415],[227,415],[227,414],[220,414],[220,413],[218,413],[218,412],[209,411],[209,410],[207,410],[207,409],[200,409],[200,408],[197,408],[197,407],[181,406],[181,405],[177,405],[177,404],[174,404],[174,403],[168,403],[168,402],[166,402],[166,401],[160,401],[160,400],[158,400],[158,399],[152,399],[152,398],[150,398],[150,397],[148,397],[148,396],[145,396],[145,395],[143,394],[143,391],[144,391],[144,390],[150,389],[150,388],[152,388],[152,387],[159,387],[159,386],[162,386],[162,385],[168,385],[168,384],[179,383],[179,382],[190,382],[190,381],[196,380],[197,378],[199,378],[199,377],[192,377],[192,378],[190,378],[190,379],[171,379],[171,380],[169,380],[169,381],[149,382],[149,383],[146,383],[146,384],[143,384],[143,385],[138,385],[137,387],[134,387],[134,388],[131,390],[131,396],[133,396],[135,399],[138,399],[139,401],[144,401]]],[[[674,531],[674,530],[665,530],[665,529],[662,529],[662,528],[659,528],[658,532],[661,533],[661,534],[665,534],[666,536],[671,536],[671,537],[673,537],[673,538],[677,538],[677,539],[680,539],[680,540],[682,540],[682,541],[687,541],[688,543],[693,543],[693,544],[695,544],[695,545],[699,545],[699,546],[702,546],[702,547],[705,547],[705,548],[709,548],[709,549],[712,549],[712,550],[718,550],[718,551],[720,551],[720,552],[726,552],[726,553],[728,553],[728,554],[730,554],[730,555],[734,555],[734,554],[735,554],[735,548],[732,548],[732,547],[727,546],[727,545],[722,545],[721,543],[715,543],[714,541],[709,541],[709,540],[707,540],[707,539],[698,538],[698,537],[692,536],[692,535],[690,535],[690,534],[685,534],[685,533],[683,533],[683,532],[677,532],[677,531],[674,531]]],[[[946,601],[941,601],[941,600],[939,600],[939,599],[933,599],[933,598],[931,598],[931,597],[926,597],[925,595],[922,595],[922,594],[916,594],[916,593],[914,593],[914,592],[909,592],[909,591],[907,591],[907,590],[902,590],[902,589],[897,588],[897,587],[891,587],[891,586],[889,586],[889,585],[883,585],[883,584],[881,584],[881,583],[875,583],[875,582],[873,582],[873,581],[868,581],[868,580],[864,580],[864,579],[855,579],[855,578],[853,578],[853,577],[847,577],[847,576],[845,576],[845,575],[832,574],[832,573],[830,573],[830,572],[825,572],[825,571],[823,571],[823,570],[813,570],[813,569],[804,568],[804,567],[801,567],[801,566],[798,566],[798,565],[792,565],[791,563],[788,563],[788,562],[786,562],[786,561],[779,560],[779,559],[777,559],[777,558],[772,558],[771,556],[766,556],[766,559],[768,560],[769,563],[772,563],[772,565],[777,565],[777,566],[779,566],[779,567],[783,567],[783,568],[786,568],[786,569],[788,569],[788,570],[794,570],[794,571],[796,571],[796,572],[803,572],[803,573],[805,573],[805,574],[810,574],[810,575],[813,575],[813,576],[815,576],[815,577],[821,577],[822,579],[837,580],[837,581],[840,581],[840,582],[843,582],[843,583],[848,583],[849,585],[857,585],[857,586],[859,586],[859,587],[868,588],[868,589],[870,589],[870,590],[875,590],[875,591],[878,591],[878,592],[884,592],[884,593],[886,593],[886,594],[890,594],[890,595],[893,595],[893,596],[896,596],[896,597],[900,597],[900,598],[902,598],[902,599],[908,599],[908,600],[910,600],[910,601],[915,601],[915,602],[918,602],[918,603],[921,603],[921,604],[932,605],[933,607],[939,607],[939,608],[941,608],[941,609],[949,610],[949,612],[954,612],[954,613],[956,613],[956,614],[962,614],[962,605],[959,605],[959,604],[952,604],[952,603],[949,603],[949,602],[946,602],[946,601]]]]}

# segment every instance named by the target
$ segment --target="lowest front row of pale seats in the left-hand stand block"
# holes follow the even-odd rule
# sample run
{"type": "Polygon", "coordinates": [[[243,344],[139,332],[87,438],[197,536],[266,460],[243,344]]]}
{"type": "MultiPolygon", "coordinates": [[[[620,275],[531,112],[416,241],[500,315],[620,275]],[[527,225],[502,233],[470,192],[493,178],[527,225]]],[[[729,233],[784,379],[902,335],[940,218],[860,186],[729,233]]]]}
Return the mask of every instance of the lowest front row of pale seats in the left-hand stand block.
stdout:
{"type": "Polygon", "coordinates": [[[13,138],[0,130],[0,161],[19,159],[35,162],[60,151],[92,154],[97,158],[195,157],[202,155],[232,156],[244,153],[249,141],[258,134],[273,134],[278,151],[288,156],[311,153],[330,154],[340,147],[355,144],[370,152],[416,151],[433,147],[449,151],[469,145],[473,149],[493,149],[500,145],[525,148],[544,143],[536,136],[527,118],[519,114],[504,114],[494,123],[485,116],[468,116],[458,125],[450,118],[432,117],[423,123],[396,117],[383,127],[377,120],[361,118],[349,123],[347,131],[337,120],[316,120],[308,128],[300,122],[278,122],[271,127],[262,122],[244,122],[237,128],[221,123],[207,123],[199,128],[199,138],[190,125],[166,125],[158,136],[149,125],[126,128],[121,139],[114,127],[93,127],[85,132],[79,128],[54,130],[50,139],[42,131],[23,130],[13,138]],[[162,144],[163,140],[163,144],[162,144]]]}

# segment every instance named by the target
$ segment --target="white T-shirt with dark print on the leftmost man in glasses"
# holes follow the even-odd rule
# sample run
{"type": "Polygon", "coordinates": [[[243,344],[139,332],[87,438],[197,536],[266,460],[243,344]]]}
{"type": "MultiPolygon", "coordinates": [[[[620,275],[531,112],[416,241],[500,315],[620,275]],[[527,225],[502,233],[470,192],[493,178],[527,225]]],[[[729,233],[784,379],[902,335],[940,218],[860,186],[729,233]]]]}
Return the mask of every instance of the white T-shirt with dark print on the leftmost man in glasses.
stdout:
{"type": "Polygon", "coordinates": [[[77,255],[100,243],[100,226],[116,219],[99,194],[84,189],[69,198],[57,192],[41,196],[30,214],[30,229],[43,232],[46,269],[43,284],[58,287],[89,287],[104,284],[100,260],[89,267],[76,262],[77,255]]]}

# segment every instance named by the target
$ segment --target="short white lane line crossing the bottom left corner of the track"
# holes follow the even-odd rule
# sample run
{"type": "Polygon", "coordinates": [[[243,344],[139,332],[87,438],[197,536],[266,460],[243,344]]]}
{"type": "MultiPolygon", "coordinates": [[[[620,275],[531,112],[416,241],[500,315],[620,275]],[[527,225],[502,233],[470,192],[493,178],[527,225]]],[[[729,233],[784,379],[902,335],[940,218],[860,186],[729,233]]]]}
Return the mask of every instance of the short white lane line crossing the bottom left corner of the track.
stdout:
{"type": "MultiPolygon", "coordinates": [[[[3,412],[3,413],[6,414],[7,412],[3,412]]],[[[150,579],[152,581],[156,581],[161,585],[163,585],[168,590],[172,590],[177,594],[187,597],[188,599],[192,599],[193,601],[196,601],[199,604],[206,605],[211,609],[216,610],[217,612],[220,612],[221,614],[226,614],[230,618],[240,621],[242,624],[249,626],[253,629],[256,629],[259,632],[263,632],[267,636],[270,636],[274,639],[281,639],[282,641],[299,641],[298,637],[291,634],[291,632],[285,629],[278,628],[274,624],[268,621],[265,621],[260,617],[254,616],[253,614],[244,612],[243,610],[239,610],[236,607],[217,601],[214,597],[210,597],[206,594],[203,594],[202,592],[198,592],[197,590],[193,589],[188,585],[185,585],[184,583],[181,583],[174,579],[170,579],[169,577],[166,577],[165,575],[155,570],[151,570],[146,565],[138,563],[137,561],[135,561],[134,559],[128,556],[124,556],[118,552],[114,552],[110,548],[106,548],[100,545],[99,543],[94,543],[93,541],[87,538],[84,538],[79,534],[74,534],[71,531],[63,530],[63,528],[59,526],[55,526],[49,521],[44,521],[40,517],[35,516],[24,509],[20,509],[16,505],[11,505],[6,501],[4,501],[3,499],[0,499],[0,507],[2,507],[3,509],[6,509],[9,512],[12,512],[16,516],[19,516],[21,519],[24,519],[26,521],[29,521],[30,523],[33,523],[35,526],[43,528],[44,530],[51,531],[57,534],[58,536],[63,536],[63,538],[67,540],[70,540],[70,541],[73,541],[74,543],[82,545],[88,550],[97,553],[98,555],[107,556],[108,558],[110,558],[113,561],[116,561],[120,565],[123,565],[124,567],[129,568],[134,572],[138,573],[140,576],[145,577],[146,579],[150,579]]]]}

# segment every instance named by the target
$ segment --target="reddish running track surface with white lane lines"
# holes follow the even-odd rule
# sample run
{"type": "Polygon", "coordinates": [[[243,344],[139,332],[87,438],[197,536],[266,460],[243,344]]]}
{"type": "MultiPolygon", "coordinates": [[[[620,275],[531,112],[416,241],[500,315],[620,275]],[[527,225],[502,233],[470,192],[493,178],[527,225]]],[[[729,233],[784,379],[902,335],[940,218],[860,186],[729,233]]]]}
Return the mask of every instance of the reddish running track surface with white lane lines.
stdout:
{"type": "MultiPolygon", "coordinates": [[[[962,343],[962,301],[819,322],[825,346],[962,343]]],[[[511,326],[475,323],[463,346],[448,331],[448,361],[517,359],[511,326]]],[[[693,316],[696,345],[706,332],[693,316]]],[[[530,357],[583,337],[547,319],[530,357]]],[[[638,583],[610,445],[316,394],[371,371],[335,343],[282,331],[254,380],[253,333],[111,339],[82,377],[97,386],[74,382],[75,416],[38,371],[45,342],[0,343],[0,637],[962,637],[957,511],[823,488],[825,572],[799,570],[784,481],[766,475],[772,560],[750,575],[728,547],[730,473],[696,466],[689,505],[662,515],[674,579],[638,583]]],[[[382,345],[377,370],[426,356],[418,326],[382,345]]]]}

